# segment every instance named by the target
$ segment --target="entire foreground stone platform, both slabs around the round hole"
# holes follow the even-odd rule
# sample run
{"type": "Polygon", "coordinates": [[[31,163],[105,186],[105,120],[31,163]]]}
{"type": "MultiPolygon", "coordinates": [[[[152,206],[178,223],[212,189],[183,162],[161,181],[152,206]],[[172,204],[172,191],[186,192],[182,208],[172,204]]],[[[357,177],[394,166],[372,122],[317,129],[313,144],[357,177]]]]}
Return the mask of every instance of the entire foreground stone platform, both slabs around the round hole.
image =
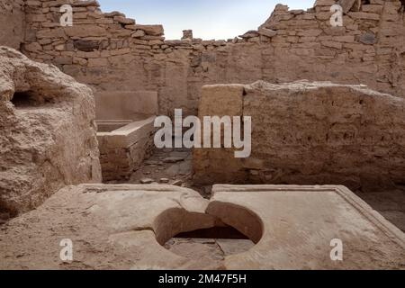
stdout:
{"type": "Polygon", "coordinates": [[[342,186],[69,186],[0,226],[0,269],[405,269],[405,237],[342,186]],[[163,245],[228,224],[257,245],[200,263],[163,245]],[[73,261],[59,255],[73,243],[73,261]],[[343,261],[330,259],[341,239],[343,261]]]}

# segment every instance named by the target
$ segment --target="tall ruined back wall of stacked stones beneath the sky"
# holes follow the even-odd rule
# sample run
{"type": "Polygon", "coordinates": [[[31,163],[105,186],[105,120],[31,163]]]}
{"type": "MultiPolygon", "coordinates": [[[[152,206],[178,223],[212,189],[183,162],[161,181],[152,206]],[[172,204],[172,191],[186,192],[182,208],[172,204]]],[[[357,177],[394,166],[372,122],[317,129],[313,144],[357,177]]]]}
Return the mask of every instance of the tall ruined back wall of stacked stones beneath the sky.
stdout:
{"type": "Polygon", "coordinates": [[[195,114],[202,85],[258,79],[365,84],[405,96],[401,1],[345,6],[344,27],[334,28],[329,9],[336,2],[318,0],[308,11],[279,4],[257,31],[234,40],[165,40],[162,26],[103,14],[93,0],[28,1],[23,52],[97,90],[155,90],[165,114],[195,114]],[[61,27],[59,7],[68,3],[74,26],[61,27]]]}

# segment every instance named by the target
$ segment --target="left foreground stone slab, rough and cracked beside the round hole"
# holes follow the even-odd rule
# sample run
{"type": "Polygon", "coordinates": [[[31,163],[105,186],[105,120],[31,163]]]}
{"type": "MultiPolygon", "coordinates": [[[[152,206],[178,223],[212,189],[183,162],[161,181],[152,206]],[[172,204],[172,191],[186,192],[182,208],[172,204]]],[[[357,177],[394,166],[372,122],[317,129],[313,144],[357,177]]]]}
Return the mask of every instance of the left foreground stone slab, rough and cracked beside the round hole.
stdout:
{"type": "Polygon", "coordinates": [[[188,263],[186,259],[167,251],[156,238],[163,245],[182,229],[213,226],[213,217],[199,216],[207,205],[208,201],[204,201],[198,193],[172,186],[67,187],[39,210],[25,214],[23,219],[12,220],[5,229],[2,228],[0,268],[197,268],[198,261],[188,263]],[[164,211],[166,214],[159,220],[158,216],[164,211]],[[193,217],[184,217],[191,213],[193,217]],[[39,220],[45,219],[42,215],[46,221],[39,220]],[[166,226],[179,220],[184,220],[182,227],[166,226]],[[23,232],[20,225],[27,223],[30,224],[23,232]],[[154,231],[158,230],[161,232],[156,235],[154,231]],[[12,238],[14,240],[9,242],[12,238]],[[71,238],[74,243],[75,261],[71,264],[64,264],[59,259],[59,242],[64,238],[71,238]],[[33,250],[29,251],[28,247],[33,250]],[[17,255],[26,258],[18,258],[17,255]]]}

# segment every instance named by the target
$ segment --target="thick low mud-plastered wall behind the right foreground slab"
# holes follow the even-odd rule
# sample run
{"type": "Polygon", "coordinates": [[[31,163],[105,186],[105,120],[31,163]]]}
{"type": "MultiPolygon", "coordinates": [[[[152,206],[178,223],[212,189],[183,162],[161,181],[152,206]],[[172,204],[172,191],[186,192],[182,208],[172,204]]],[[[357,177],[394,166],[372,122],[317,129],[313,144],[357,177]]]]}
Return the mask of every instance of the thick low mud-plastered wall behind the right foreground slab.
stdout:
{"type": "Polygon", "coordinates": [[[200,183],[344,184],[367,192],[405,179],[405,100],[365,85],[206,85],[199,117],[211,115],[252,117],[252,154],[194,149],[200,183]]]}

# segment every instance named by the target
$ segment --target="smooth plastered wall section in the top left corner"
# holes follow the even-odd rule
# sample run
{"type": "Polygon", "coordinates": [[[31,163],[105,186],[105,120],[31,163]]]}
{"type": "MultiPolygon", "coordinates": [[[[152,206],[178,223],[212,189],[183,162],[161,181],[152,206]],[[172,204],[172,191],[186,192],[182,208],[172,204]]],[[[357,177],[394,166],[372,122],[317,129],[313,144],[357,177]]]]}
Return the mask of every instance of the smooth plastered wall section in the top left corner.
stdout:
{"type": "Polygon", "coordinates": [[[23,0],[0,0],[0,44],[20,49],[24,40],[23,0]]]}

